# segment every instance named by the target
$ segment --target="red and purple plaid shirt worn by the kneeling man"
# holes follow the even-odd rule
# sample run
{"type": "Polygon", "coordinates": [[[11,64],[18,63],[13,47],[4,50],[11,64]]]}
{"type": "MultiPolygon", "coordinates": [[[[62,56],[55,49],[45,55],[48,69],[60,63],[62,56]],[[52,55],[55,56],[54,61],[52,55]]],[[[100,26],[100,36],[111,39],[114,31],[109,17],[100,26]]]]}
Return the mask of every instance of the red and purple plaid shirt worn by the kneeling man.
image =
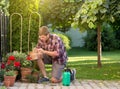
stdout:
{"type": "Polygon", "coordinates": [[[42,48],[47,51],[57,51],[59,56],[53,58],[53,61],[57,61],[59,64],[66,64],[68,59],[66,49],[61,38],[56,34],[50,34],[50,37],[46,43],[38,39],[37,48],[42,48]]]}

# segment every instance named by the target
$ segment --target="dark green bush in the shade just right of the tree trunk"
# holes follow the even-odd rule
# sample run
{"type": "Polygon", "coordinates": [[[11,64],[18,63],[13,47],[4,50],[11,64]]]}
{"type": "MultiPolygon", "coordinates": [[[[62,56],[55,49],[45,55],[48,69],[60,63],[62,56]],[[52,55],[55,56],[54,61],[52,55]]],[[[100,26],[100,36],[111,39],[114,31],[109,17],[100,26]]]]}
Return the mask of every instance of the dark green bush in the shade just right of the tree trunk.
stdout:
{"type": "Polygon", "coordinates": [[[102,49],[110,51],[110,50],[115,50],[117,41],[115,39],[115,34],[113,31],[113,28],[110,24],[103,23],[103,31],[102,31],[102,49]]]}

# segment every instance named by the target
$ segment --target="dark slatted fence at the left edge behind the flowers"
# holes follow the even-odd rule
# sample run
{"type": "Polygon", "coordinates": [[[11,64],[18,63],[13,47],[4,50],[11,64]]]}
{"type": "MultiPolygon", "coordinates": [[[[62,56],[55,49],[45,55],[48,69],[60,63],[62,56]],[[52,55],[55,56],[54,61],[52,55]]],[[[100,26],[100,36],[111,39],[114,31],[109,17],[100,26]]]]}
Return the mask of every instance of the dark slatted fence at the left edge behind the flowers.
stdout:
{"type": "Polygon", "coordinates": [[[2,55],[7,53],[7,31],[8,31],[9,17],[5,15],[2,10],[0,11],[0,61],[2,55]]]}

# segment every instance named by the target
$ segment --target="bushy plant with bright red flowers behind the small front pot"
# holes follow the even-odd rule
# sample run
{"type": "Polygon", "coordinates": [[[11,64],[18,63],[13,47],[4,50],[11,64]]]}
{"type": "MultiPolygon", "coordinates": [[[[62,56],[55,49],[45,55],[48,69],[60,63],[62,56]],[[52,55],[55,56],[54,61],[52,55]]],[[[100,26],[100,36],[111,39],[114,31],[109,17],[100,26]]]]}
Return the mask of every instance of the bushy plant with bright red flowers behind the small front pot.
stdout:
{"type": "Polygon", "coordinates": [[[16,80],[20,79],[20,68],[21,68],[21,60],[26,58],[25,53],[21,53],[18,51],[13,51],[10,53],[7,53],[3,60],[2,60],[2,65],[1,68],[5,69],[6,71],[13,70],[16,73],[16,80]]]}

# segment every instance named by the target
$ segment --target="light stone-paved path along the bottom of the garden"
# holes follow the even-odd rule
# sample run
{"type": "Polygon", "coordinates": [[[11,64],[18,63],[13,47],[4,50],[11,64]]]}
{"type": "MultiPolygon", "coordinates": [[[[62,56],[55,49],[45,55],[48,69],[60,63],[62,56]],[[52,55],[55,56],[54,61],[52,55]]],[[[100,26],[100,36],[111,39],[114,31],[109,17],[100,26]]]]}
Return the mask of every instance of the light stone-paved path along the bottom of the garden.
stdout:
{"type": "Polygon", "coordinates": [[[70,86],[63,86],[62,83],[22,83],[16,82],[8,89],[120,89],[120,80],[74,80],[70,86]]]}

